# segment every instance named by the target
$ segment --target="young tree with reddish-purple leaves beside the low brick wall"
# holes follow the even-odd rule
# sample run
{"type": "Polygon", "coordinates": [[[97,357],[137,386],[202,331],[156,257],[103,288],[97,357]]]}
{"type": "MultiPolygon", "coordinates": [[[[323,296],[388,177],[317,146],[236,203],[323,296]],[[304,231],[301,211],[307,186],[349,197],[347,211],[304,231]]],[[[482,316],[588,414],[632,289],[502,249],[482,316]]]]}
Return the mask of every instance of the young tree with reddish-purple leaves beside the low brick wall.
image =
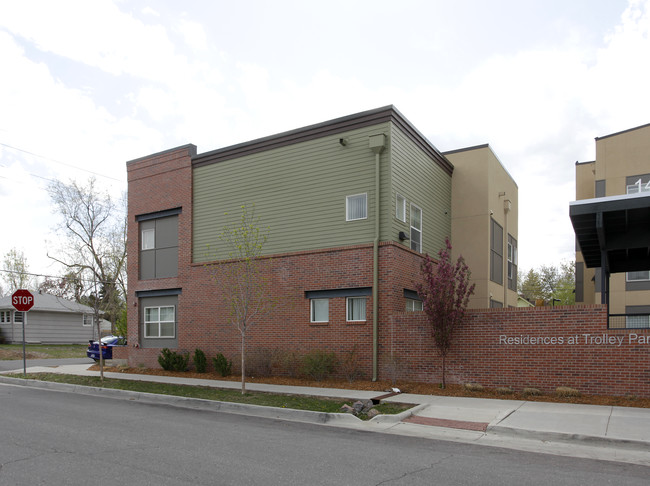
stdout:
{"type": "Polygon", "coordinates": [[[433,328],[433,340],[442,357],[442,388],[445,388],[446,359],[454,330],[465,316],[474,284],[469,283],[470,271],[462,256],[451,261],[451,243],[438,252],[438,264],[427,254],[420,268],[422,281],[415,284],[422,307],[433,328]]]}

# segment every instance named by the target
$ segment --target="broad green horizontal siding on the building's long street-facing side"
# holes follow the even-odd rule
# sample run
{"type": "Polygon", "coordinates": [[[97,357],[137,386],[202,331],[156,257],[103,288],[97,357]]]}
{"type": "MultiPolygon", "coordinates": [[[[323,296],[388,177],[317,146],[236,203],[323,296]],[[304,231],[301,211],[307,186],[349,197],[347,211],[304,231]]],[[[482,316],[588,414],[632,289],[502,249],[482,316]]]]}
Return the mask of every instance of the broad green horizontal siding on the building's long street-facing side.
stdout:
{"type": "MultiPolygon", "coordinates": [[[[260,225],[270,228],[265,254],[371,243],[375,158],[368,137],[389,131],[382,123],[195,168],[193,260],[227,256],[219,234],[239,219],[242,205],[254,204],[260,225]],[[368,218],[346,221],[345,198],[360,193],[368,195],[368,218]]],[[[389,152],[381,157],[387,194],[389,152]]]]}

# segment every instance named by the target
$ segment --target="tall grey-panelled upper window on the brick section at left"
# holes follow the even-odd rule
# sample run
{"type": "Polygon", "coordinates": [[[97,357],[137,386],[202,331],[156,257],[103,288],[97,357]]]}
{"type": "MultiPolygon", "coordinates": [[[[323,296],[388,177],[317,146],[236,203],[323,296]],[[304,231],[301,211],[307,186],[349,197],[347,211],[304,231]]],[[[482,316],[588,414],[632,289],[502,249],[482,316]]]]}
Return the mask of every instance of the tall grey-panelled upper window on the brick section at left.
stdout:
{"type": "Polygon", "coordinates": [[[178,275],[178,214],[180,208],[136,218],[140,225],[140,279],[178,275]]]}

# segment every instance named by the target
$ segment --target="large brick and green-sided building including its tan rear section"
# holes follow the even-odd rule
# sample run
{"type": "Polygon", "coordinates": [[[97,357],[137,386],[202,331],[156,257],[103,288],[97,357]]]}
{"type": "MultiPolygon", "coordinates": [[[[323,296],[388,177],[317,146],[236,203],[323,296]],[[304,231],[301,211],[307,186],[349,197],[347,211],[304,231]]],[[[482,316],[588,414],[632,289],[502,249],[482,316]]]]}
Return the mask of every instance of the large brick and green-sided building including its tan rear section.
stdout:
{"type": "Polygon", "coordinates": [[[173,148],[127,173],[131,364],[155,366],[165,347],[239,352],[213,270],[242,206],[270,229],[276,303],[251,349],[354,351],[377,378],[391,316],[422,309],[420,262],[450,236],[476,279],[472,306],[516,305],[516,184],[489,146],[442,154],[393,106],[200,154],[173,148]]]}

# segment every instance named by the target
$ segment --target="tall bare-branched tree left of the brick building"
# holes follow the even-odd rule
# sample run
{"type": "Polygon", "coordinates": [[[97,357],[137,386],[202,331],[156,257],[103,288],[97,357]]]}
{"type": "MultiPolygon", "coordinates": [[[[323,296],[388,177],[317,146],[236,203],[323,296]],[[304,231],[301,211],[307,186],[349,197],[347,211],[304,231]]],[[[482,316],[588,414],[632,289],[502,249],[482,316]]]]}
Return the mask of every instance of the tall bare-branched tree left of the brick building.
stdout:
{"type": "MultiPolygon", "coordinates": [[[[65,244],[56,255],[48,256],[68,272],[92,282],[91,299],[97,337],[101,340],[101,308],[124,302],[126,272],[126,212],[101,192],[94,178],[81,186],[72,181],[55,181],[48,187],[55,210],[62,217],[58,230],[65,244]],[[103,290],[103,292],[102,292],[103,290]],[[115,293],[120,293],[116,298],[115,293]]],[[[123,201],[125,198],[123,198],[123,201]]],[[[104,362],[100,346],[100,372],[104,362]]]]}

